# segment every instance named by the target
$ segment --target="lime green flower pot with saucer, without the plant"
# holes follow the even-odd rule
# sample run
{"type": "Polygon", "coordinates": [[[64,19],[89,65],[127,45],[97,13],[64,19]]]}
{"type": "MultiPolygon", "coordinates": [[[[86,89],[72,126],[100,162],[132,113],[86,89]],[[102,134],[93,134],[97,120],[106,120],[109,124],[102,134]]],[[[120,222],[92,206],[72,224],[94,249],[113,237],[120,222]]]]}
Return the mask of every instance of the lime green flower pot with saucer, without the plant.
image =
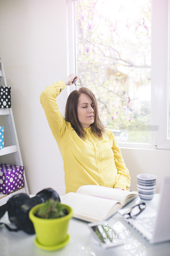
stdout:
{"type": "MultiPolygon", "coordinates": [[[[33,222],[35,233],[37,235],[36,241],[41,246],[49,248],[60,248],[60,244],[65,245],[69,235],[67,234],[69,220],[73,217],[73,210],[70,206],[65,205],[69,212],[67,215],[57,219],[43,219],[36,217],[34,214],[39,210],[43,204],[37,204],[29,212],[29,218],[33,222]]],[[[63,246],[62,246],[63,247],[63,246]]],[[[52,249],[49,249],[52,250],[52,249]]]]}

